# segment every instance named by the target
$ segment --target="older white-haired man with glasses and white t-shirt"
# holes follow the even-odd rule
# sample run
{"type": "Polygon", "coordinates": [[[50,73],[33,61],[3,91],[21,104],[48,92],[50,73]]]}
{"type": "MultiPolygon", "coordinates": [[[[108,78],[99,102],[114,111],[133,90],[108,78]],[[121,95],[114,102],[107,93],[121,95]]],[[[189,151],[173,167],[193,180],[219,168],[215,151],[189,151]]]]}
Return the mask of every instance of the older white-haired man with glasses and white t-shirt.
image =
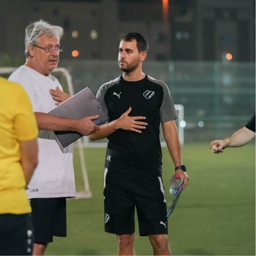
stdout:
{"type": "Polygon", "coordinates": [[[62,90],[50,73],[57,67],[63,29],[39,20],[27,26],[25,34],[26,63],[11,74],[9,80],[20,83],[28,93],[38,128],[38,166],[28,186],[34,226],[34,255],[44,255],[53,236],[66,237],[66,198],[75,197],[73,146],[63,148],[54,134],[76,131],[89,135],[96,130],[92,120],[58,118],[47,114],[56,107],[49,90],[62,90]]]}

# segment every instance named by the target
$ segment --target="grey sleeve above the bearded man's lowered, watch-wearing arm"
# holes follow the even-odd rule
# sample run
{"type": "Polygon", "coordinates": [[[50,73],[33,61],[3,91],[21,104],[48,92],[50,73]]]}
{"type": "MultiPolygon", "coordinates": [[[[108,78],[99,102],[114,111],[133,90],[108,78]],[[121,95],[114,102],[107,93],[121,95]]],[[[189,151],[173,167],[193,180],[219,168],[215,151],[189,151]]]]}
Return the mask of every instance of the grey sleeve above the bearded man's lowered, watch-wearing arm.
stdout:
{"type": "Polygon", "coordinates": [[[160,107],[160,120],[161,123],[168,122],[170,120],[174,120],[178,118],[176,109],[174,107],[174,103],[172,100],[172,96],[170,94],[170,91],[165,83],[161,84],[163,91],[164,91],[164,96],[163,96],[163,101],[160,107]]]}

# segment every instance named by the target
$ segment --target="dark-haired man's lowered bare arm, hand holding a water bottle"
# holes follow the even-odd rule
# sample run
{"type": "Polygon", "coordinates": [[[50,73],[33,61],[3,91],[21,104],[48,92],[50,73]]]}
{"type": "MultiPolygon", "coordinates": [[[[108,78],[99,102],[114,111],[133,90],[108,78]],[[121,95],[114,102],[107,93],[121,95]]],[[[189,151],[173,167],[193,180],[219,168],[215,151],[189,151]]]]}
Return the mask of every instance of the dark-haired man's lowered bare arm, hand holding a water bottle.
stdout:
{"type": "MultiPolygon", "coordinates": [[[[182,165],[180,141],[178,138],[178,131],[174,123],[174,120],[170,120],[168,122],[162,123],[162,127],[163,127],[164,139],[166,141],[166,144],[170,152],[170,155],[172,157],[172,160],[174,162],[174,165],[180,166],[182,165]]],[[[181,176],[180,184],[184,182],[184,186],[182,188],[182,190],[184,190],[184,188],[188,184],[188,180],[189,180],[188,175],[182,169],[178,169],[176,170],[176,172],[181,176]]],[[[171,184],[171,179],[170,179],[170,184],[171,184]]]]}

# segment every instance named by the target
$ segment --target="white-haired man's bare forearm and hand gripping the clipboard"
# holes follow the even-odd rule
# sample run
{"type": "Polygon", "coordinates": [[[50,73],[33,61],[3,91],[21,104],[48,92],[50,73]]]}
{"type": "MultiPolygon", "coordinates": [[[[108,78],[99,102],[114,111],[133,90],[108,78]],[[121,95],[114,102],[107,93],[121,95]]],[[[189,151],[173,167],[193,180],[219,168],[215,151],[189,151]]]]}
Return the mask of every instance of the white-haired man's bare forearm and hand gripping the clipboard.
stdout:
{"type": "Polygon", "coordinates": [[[42,112],[35,112],[35,115],[40,130],[76,131],[86,136],[100,130],[100,127],[92,122],[98,115],[81,119],[59,118],[42,112]]]}

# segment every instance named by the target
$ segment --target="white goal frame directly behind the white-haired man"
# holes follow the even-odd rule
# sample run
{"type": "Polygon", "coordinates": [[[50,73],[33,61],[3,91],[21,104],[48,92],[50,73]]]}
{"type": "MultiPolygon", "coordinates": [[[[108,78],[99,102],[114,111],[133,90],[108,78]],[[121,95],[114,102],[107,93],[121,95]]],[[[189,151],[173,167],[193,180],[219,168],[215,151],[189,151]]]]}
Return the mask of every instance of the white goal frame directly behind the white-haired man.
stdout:
{"type": "MultiPolygon", "coordinates": [[[[11,74],[16,69],[17,68],[13,68],[13,67],[0,67],[0,75],[1,74],[11,74]]],[[[74,88],[73,88],[73,84],[72,84],[72,78],[71,78],[68,70],[66,70],[65,68],[56,68],[53,72],[61,72],[64,75],[64,77],[66,78],[66,81],[67,81],[67,85],[68,85],[68,92],[71,96],[73,96],[74,88]]],[[[79,158],[80,158],[80,166],[81,166],[81,171],[82,171],[82,176],[83,176],[83,181],[84,181],[84,190],[76,192],[76,198],[90,198],[90,197],[92,197],[92,193],[90,191],[90,186],[89,186],[89,181],[88,181],[88,176],[87,176],[87,171],[86,171],[82,140],[81,139],[77,140],[77,142],[74,145],[78,148],[79,158]]]]}

